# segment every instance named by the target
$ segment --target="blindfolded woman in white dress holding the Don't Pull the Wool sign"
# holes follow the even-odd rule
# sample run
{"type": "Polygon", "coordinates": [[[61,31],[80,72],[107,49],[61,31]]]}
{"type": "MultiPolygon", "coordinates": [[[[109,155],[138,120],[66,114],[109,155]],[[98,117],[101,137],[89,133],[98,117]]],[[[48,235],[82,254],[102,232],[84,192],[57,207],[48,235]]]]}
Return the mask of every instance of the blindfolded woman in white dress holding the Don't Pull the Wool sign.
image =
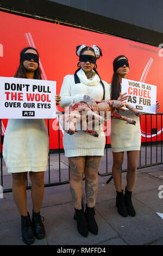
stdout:
{"type": "MultiPolygon", "coordinates": [[[[20,66],[14,77],[41,80],[39,53],[27,47],[21,51],[20,66]]],[[[60,96],[56,97],[56,104],[60,96]]],[[[45,237],[40,209],[44,193],[44,172],[47,170],[49,138],[45,119],[9,119],[4,135],[3,157],[12,173],[12,193],[21,214],[22,240],[26,244],[45,237]],[[32,182],[32,222],[27,212],[26,178],[32,182]]]]}

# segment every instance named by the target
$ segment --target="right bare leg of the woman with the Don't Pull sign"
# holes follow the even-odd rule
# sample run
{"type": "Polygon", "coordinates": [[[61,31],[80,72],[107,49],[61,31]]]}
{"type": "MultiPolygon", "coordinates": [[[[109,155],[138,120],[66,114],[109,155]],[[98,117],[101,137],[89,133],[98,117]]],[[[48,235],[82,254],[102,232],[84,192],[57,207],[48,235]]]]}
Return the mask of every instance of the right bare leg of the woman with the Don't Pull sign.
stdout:
{"type": "Polygon", "coordinates": [[[39,212],[42,205],[44,193],[44,172],[30,172],[30,180],[32,181],[32,202],[34,212],[39,212]]]}

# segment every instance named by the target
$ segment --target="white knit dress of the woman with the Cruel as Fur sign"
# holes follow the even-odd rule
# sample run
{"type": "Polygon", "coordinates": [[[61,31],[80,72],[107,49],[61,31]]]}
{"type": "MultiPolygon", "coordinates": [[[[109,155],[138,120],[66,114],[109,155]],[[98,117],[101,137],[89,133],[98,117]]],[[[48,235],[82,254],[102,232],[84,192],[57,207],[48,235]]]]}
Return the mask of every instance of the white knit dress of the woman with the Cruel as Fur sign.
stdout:
{"type": "MultiPolygon", "coordinates": [[[[111,87],[111,84],[110,84],[111,87]]],[[[141,131],[140,120],[133,112],[118,110],[121,115],[126,115],[136,121],[135,125],[126,124],[120,119],[111,118],[110,143],[113,152],[140,150],[141,131]]]]}

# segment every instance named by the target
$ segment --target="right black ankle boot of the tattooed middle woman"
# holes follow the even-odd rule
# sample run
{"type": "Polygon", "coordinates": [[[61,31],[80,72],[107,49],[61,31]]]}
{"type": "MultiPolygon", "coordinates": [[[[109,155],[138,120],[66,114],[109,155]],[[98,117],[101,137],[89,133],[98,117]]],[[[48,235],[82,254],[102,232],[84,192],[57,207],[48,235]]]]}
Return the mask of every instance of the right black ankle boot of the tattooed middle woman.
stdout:
{"type": "Polygon", "coordinates": [[[87,226],[88,226],[89,231],[93,235],[97,235],[98,234],[98,225],[95,220],[95,207],[91,208],[86,205],[85,217],[86,217],[87,226]]]}

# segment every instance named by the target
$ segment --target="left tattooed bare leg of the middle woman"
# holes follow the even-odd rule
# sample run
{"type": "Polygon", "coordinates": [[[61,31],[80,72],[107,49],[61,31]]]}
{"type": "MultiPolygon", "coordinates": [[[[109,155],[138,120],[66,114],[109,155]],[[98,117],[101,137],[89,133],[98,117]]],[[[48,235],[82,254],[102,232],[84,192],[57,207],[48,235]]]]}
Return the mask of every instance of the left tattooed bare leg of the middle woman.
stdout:
{"type": "Polygon", "coordinates": [[[70,191],[74,208],[81,210],[85,156],[68,157],[68,162],[71,170],[70,191]]]}

